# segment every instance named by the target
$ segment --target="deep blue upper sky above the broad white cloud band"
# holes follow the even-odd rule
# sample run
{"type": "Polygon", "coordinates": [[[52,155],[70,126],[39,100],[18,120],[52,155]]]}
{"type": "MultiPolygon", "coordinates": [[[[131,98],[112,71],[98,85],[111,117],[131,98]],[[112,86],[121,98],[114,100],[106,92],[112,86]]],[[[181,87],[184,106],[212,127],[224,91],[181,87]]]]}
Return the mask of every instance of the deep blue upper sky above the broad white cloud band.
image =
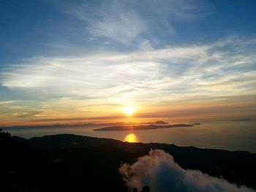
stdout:
{"type": "Polygon", "coordinates": [[[65,53],[56,50],[53,47],[56,44],[83,49],[132,50],[138,47],[138,42],[124,46],[108,37],[91,40],[93,37],[88,30],[92,23],[103,19],[104,14],[114,19],[126,9],[149,25],[146,31],[138,31],[138,41],[145,38],[156,47],[212,42],[228,35],[255,36],[256,2],[253,0],[96,2],[1,1],[1,65],[34,55],[65,53]],[[110,45],[106,45],[107,41],[110,45]]]}

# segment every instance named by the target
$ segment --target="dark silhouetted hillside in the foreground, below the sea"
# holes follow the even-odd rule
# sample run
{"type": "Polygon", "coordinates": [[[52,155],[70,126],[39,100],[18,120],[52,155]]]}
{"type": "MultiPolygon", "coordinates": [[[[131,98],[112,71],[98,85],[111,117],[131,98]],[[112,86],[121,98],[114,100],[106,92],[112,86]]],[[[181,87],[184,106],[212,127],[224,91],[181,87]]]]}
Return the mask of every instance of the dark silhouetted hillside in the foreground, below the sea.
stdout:
{"type": "Polygon", "coordinates": [[[127,191],[118,167],[150,149],[173,155],[184,169],[199,169],[256,188],[256,154],[127,143],[61,134],[23,139],[0,133],[0,191],[127,191]]]}

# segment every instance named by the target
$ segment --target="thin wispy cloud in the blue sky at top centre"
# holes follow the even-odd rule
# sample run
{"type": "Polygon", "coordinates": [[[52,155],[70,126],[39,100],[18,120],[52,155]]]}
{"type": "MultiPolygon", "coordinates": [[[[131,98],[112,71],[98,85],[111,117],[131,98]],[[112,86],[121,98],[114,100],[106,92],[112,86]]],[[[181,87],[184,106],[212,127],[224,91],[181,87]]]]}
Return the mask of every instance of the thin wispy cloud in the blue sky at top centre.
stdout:
{"type": "Polygon", "coordinates": [[[63,11],[84,22],[90,39],[142,47],[147,41],[175,34],[175,20],[202,18],[211,13],[210,7],[205,1],[106,0],[69,4],[63,11]]]}

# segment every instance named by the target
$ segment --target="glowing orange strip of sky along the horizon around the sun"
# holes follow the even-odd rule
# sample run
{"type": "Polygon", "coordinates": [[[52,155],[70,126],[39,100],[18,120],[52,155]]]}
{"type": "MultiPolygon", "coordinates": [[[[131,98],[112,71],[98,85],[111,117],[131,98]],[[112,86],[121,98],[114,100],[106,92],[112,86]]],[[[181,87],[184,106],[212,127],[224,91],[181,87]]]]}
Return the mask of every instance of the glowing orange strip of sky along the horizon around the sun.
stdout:
{"type": "MultiPolygon", "coordinates": [[[[79,105],[80,103],[78,103],[79,105]]],[[[73,107],[74,104],[72,104],[73,107]]],[[[203,120],[234,120],[255,118],[256,99],[219,99],[212,101],[181,101],[170,104],[151,103],[141,104],[132,115],[127,115],[120,105],[108,106],[100,110],[95,107],[91,111],[83,111],[83,106],[70,108],[69,104],[62,105],[63,109],[42,109],[39,114],[17,114],[1,117],[0,126],[21,125],[51,125],[75,123],[110,123],[110,122],[146,122],[165,120],[167,122],[185,123],[203,120]],[[69,112],[65,110],[69,107],[69,112]]]]}

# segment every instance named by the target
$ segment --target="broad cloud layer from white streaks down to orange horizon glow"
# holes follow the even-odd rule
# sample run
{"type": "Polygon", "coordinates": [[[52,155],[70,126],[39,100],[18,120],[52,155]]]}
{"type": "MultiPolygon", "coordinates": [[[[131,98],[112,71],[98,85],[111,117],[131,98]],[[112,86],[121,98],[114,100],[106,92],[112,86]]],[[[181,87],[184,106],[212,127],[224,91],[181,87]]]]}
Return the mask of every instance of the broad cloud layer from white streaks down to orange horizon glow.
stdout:
{"type": "Polygon", "coordinates": [[[15,118],[116,117],[118,108],[132,104],[148,109],[138,118],[251,117],[255,101],[244,97],[256,95],[254,42],[229,37],[130,53],[28,58],[3,69],[0,83],[31,93],[34,101],[26,107],[3,101],[2,110],[15,118]]]}

